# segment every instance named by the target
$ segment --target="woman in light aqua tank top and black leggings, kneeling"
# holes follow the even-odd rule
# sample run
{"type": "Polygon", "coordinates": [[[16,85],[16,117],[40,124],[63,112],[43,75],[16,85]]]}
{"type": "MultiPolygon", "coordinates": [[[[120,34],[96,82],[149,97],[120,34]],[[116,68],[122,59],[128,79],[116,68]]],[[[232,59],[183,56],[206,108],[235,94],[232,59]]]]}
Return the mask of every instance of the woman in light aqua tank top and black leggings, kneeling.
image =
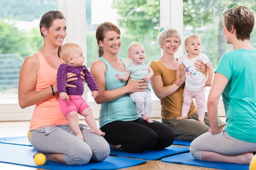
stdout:
{"type": "Polygon", "coordinates": [[[124,75],[130,61],[118,57],[121,47],[120,30],[112,23],[99,24],[96,31],[99,59],[93,62],[90,72],[99,89],[96,103],[101,104],[100,129],[113,149],[126,152],[143,152],[151,148],[161,149],[174,141],[174,132],[158,121],[148,123],[140,117],[129,93],[147,89],[144,80],[123,82],[116,73],[124,75]]]}

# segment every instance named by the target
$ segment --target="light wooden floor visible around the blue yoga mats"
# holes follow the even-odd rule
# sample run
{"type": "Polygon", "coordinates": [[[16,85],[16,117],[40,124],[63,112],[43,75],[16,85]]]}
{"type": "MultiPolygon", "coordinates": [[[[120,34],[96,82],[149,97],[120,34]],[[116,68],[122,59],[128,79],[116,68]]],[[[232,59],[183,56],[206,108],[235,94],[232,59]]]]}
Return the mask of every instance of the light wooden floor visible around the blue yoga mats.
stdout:
{"type": "MultiPolygon", "coordinates": [[[[154,119],[161,121],[161,119],[154,119]]],[[[221,120],[225,121],[225,118],[221,120]]],[[[79,120],[80,123],[84,123],[84,120],[79,120]]],[[[98,124],[98,120],[97,120],[98,124]]],[[[1,137],[12,137],[12,136],[26,136],[29,129],[29,121],[0,121],[0,138],[1,137]]],[[[1,152],[1,151],[0,151],[1,152]]],[[[197,167],[182,165],[176,163],[166,163],[160,160],[147,161],[141,165],[125,168],[122,170],[214,170],[212,168],[197,167]]],[[[40,168],[32,168],[26,166],[18,166],[7,163],[0,163],[0,170],[44,170],[40,168]]]]}

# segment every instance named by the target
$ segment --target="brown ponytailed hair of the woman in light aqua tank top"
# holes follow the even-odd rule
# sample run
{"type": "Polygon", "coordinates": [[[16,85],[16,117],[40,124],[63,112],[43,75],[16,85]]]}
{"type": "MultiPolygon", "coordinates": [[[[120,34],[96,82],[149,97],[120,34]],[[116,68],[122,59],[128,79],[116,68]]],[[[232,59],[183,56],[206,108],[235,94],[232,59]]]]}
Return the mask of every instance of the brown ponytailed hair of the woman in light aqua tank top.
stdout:
{"type": "Polygon", "coordinates": [[[103,47],[99,45],[99,41],[101,40],[103,42],[103,39],[105,38],[105,33],[108,31],[116,31],[117,34],[119,35],[121,34],[119,28],[110,22],[104,22],[98,25],[96,30],[96,39],[97,39],[98,48],[99,48],[98,49],[99,57],[102,57],[104,53],[103,47]]]}

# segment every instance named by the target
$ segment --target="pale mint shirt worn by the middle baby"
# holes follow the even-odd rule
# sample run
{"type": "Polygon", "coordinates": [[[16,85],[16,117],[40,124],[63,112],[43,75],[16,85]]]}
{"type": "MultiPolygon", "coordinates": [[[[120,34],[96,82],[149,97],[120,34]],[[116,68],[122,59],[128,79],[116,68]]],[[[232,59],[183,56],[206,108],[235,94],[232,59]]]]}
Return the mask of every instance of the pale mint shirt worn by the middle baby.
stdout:
{"type": "MultiPolygon", "coordinates": [[[[145,59],[141,65],[135,65],[133,62],[130,62],[129,64],[125,65],[125,70],[131,73],[131,79],[132,81],[136,80],[142,80],[145,75],[147,75],[148,68],[150,67],[150,60],[145,59]]],[[[151,91],[151,84],[150,80],[147,82],[148,83],[148,90],[151,91]]]]}

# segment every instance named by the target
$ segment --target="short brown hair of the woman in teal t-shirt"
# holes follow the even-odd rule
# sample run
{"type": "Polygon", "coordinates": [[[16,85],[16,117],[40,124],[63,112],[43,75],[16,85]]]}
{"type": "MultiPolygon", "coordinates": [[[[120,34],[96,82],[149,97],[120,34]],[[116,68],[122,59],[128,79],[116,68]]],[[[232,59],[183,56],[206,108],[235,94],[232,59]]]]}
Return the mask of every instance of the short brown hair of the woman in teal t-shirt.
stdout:
{"type": "MultiPolygon", "coordinates": [[[[250,7],[249,7],[250,8],[250,7]]],[[[250,40],[250,35],[254,26],[253,12],[246,6],[238,6],[231,8],[223,13],[223,23],[230,32],[232,26],[236,30],[236,37],[238,40],[250,40]],[[230,10],[237,9],[237,15],[231,15],[230,10]]]]}

